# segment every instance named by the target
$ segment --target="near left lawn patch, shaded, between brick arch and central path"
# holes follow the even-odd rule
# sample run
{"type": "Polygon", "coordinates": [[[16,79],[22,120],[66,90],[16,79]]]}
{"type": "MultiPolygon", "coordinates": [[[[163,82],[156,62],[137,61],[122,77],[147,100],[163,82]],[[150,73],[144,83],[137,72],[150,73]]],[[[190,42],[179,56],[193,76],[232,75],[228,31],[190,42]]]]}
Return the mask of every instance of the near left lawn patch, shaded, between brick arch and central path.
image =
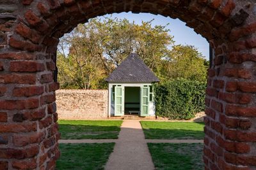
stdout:
{"type": "Polygon", "coordinates": [[[104,169],[115,143],[60,144],[56,169],[104,169]]]}

